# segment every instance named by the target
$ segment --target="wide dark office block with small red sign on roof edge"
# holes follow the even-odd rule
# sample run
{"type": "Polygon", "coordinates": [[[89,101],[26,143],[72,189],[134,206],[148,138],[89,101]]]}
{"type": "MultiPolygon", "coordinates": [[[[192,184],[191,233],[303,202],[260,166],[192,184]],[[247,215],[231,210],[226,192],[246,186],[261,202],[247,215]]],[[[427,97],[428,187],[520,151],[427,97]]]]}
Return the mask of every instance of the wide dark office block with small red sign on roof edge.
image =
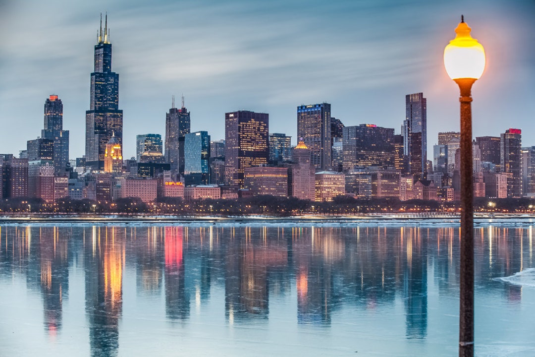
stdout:
{"type": "Polygon", "coordinates": [[[374,124],[343,128],[344,170],[358,167],[394,167],[394,129],[374,124]]]}

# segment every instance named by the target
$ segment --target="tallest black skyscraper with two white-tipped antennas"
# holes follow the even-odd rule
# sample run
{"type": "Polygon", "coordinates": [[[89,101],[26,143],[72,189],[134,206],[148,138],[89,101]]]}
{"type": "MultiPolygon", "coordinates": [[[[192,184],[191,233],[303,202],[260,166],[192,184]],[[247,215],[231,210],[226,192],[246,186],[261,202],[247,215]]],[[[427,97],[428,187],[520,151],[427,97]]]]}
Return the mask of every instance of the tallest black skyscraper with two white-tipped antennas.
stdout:
{"type": "Polygon", "coordinates": [[[119,109],[119,74],[111,71],[108,15],[95,45],[95,69],[91,73],[89,110],[86,111],[86,166],[104,170],[106,143],[115,135],[123,146],[123,111],[119,109]]]}

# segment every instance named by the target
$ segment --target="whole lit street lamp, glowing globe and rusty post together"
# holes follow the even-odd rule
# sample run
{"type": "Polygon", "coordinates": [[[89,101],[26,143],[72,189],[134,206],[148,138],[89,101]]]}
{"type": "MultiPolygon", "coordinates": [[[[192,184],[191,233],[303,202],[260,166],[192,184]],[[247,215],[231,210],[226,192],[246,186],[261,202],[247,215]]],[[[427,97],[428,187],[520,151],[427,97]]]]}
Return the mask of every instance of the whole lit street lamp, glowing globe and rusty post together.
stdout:
{"type": "Polygon", "coordinates": [[[446,72],[459,86],[461,97],[461,270],[459,297],[459,356],[473,356],[473,184],[472,96],[473,83],[485,69],[483,46],[470,36],[461,17],[455,39],[444,49],[446,72]]]}

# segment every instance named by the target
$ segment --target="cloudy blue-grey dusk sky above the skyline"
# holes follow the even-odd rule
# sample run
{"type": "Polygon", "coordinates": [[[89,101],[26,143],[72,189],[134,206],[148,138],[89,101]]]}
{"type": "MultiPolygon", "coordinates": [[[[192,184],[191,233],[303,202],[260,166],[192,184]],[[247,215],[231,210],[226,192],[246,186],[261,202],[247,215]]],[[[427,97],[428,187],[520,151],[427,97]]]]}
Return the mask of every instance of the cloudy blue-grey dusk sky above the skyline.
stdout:
{"type": "Polygon", "coordinates": [[[171,95],[186,97],[192,131],[224,139],[224,113],[270,115],[296,136],[296,107],[328,102],[346,125],[393,127],[405,95],[427,98],[428,155],[457,131],[458,88],[442,52],[464,14],[485,47],[472,90],[474,134],[523,130],[535,146],[535,1],[272,0],[71,2],[0,0],[0,153],[40,135],[50,94],[64,104],[71,158],[85,151],[85,111],[100,12],[108,11],[124,110],[124,156],[135,135],[165,134],[171,95]]]}

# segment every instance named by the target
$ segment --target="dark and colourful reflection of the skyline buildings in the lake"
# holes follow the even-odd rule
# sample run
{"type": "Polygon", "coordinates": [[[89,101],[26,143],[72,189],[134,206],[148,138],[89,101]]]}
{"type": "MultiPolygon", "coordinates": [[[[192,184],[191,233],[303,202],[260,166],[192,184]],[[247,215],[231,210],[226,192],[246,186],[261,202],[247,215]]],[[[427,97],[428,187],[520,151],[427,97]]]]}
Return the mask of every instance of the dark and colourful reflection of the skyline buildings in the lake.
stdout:
{"type": "MultiPolygon", "coordinates": [[[[521,286],[492,278],[534,266],[532,236],[531,226],[478,227],[477,291],[521,303],[521,286]]],[[[118,355],[127,271],[136,294],[164,298],[157,318],[169,322],[187,323],[220,301],[226,323],[263,323],[273,299],[293,296],[295,323],[330,326],[348,308],[399,302],[404,336],[425,339],[429,286],[438,299],[458,298],[458,239],[455,227],[2,226],[0,274],[24,276],[40,293],[53,337],[65,333],[69,271],[80,269],[79,257],[94,356],[118,355]]]]}

